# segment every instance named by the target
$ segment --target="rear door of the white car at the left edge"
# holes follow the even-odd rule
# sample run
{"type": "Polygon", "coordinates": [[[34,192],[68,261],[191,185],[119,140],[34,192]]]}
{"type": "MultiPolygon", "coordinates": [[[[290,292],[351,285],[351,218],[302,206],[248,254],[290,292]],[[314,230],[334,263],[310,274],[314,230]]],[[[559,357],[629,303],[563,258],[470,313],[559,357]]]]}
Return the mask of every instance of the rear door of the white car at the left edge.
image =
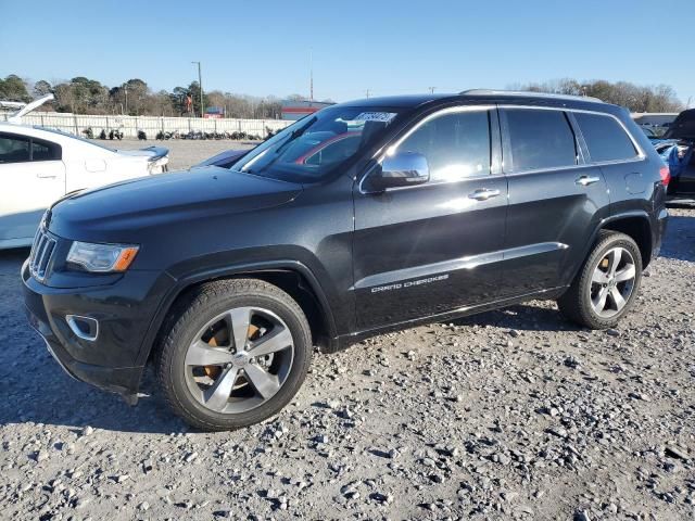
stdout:
{"type": "Polygon", "coordinates": [[[65,193],[60,145],[0,132],[0,241],[30,240],[43,211],[65,193]]]}

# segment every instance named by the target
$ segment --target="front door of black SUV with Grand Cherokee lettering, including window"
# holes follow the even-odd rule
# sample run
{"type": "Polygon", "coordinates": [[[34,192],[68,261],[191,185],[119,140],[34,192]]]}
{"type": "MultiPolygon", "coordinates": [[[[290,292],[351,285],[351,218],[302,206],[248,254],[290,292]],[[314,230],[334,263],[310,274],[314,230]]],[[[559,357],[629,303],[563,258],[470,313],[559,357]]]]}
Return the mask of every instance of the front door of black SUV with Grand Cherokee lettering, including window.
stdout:
{"type": "Polygon", "coordinates": [[[442,110],[414,124],[390,149],[422,154],[429,182],[382,193],[355,188],[359,331],[500,294],[507,181],[500,171],[498,136],[494,109],[442,110]]]}

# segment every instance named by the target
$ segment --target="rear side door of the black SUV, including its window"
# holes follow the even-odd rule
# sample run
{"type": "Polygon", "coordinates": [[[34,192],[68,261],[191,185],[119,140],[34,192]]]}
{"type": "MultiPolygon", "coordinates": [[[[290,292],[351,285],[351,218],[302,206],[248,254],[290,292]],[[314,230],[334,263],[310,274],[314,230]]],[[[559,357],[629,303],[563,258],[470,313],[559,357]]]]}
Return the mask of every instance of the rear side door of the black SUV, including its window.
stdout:
{"type": "Polygon", "coordinates": [[[507,106],[501,123],[509,183],[505,293],[563,285],[608,212],[604,177],[586,164],[561,109],[507,106]]]}

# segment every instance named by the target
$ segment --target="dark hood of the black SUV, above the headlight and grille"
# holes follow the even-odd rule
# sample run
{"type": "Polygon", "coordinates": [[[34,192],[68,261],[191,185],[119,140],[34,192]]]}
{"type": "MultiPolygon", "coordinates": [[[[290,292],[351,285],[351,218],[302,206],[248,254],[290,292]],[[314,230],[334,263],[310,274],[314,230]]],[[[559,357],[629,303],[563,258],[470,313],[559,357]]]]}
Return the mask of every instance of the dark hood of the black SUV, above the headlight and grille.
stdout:
{"type": "Polygon", "coordinates": [[[301,190],[301,185],[214,166],[175,171],[70,194],[50,208],[49,230],[65,239],[127,241],[176,223],[278,206],[301,190]]]}

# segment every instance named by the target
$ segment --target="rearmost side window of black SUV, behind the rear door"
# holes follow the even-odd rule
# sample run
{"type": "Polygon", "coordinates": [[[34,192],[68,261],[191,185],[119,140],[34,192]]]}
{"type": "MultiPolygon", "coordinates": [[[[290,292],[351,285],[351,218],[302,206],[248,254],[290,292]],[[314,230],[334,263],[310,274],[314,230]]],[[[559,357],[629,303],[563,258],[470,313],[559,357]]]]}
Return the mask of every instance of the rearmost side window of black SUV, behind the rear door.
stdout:
{"type": "Polygon", "coordinates": [[[630,137],[612,117],[582,112],[576,113],[574,117],[589,147],[591,161],[631,160],[637,155],[630,137]]]}

